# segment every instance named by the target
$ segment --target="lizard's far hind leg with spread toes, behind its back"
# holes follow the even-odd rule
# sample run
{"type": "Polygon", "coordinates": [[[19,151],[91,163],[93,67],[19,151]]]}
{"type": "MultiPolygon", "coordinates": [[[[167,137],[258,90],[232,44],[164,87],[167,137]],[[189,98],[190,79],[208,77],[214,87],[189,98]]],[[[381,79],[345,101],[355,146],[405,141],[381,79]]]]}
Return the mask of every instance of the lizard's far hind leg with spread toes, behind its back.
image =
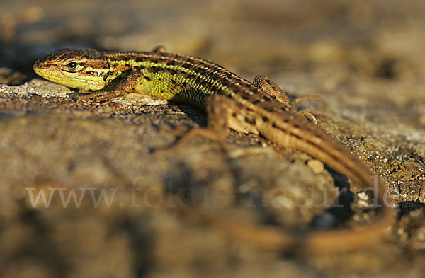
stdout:
{"type": "Polygon", "coordinates": [[[273,96],[280,103],[283,103],[290,110],[293,110],[299,113],[300,115],[306,117],[308,120],[310,120],[314,124],[317,124],[317,118],[310,112],[298,111],[297,103],[301,103],[302,101],[307,101],[307,100],[317,100],[317,101],[320,101],[322,104],[324,104],[324,106],[326,107],[326,103],[324,103],[324,100],[314,95],[297,98],[294,103],[291,102],[290,99],[288,98],[288,95],[285,93],[285,91],[283,91],[274,81],[269,79],[267,76],[257,75],[254,77],[253,83],[255,86],[261,88],[261,90],[263,90],[265,93],[268,93],[268,95],[273,96]]]}

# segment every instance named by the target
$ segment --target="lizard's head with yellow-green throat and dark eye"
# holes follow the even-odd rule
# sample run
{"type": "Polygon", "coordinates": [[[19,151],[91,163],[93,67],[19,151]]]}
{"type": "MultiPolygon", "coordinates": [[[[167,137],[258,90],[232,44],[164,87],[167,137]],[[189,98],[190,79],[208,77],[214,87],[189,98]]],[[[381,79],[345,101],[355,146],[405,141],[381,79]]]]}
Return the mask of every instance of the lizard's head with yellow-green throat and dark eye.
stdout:
{"type": "Polygon", "coordinates": [[[109,64],[97,50],[66,48],[42,57],[33,69],[39,76],[70,88],[100,90],[106,86],[109,64]]]}

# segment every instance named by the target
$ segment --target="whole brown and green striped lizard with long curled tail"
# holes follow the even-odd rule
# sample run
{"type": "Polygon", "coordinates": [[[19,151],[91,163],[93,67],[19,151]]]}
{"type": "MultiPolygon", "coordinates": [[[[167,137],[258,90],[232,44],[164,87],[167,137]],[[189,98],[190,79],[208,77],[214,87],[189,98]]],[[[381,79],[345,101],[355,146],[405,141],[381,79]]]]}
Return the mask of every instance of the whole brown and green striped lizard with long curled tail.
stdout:
{"type": "Polygon", "coordinates": [[[317,127],[312,115],[297,111],[284,91],[266,76],[256,76],[250,82],[208,60],[166,53],[164,47],[151,52],[57,50],[38,59],[33,69],[47,80],[79,89],[84,95],[77,102],[112,100],[135,91],[193,105],[207,112],[208,127],[191,129],[188,134],[224,141],[229,129],[234,129],[261,135],[278,146],[305,151],[363,190],[372,190],[375,208],[380,207],[373,222],[356,230],[333,228],[305,236],[277,226],[249,225],[183,209],[193,219],[218,226],[229,236],[270,250],[334,253],[382,241],[395,219],[394,202],[382,181],[373,179],[373,172],[357,156],[317,127]]]}

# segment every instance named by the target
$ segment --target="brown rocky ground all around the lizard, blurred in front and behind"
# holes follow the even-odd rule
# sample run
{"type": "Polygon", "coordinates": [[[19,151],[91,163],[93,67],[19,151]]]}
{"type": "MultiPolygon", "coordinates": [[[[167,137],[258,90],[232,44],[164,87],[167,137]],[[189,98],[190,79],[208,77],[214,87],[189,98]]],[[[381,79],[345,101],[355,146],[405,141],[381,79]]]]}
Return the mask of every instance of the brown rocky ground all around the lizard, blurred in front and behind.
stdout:
{"type": "Polygon", "coordinates": [[[1,3],[0,277],[423,276],[423,1],[144,2],[1,3]],[[62,47],[159,44],[249,80],[267,75],[291,98],[319,95],[327,108],[301,109],[380,175],[397,202],[387,240],[336,255],[273,253],[164,209],[151,197],[168,190],[251,224],[273,216],[284,228],[314,231],[373,221],[358,209],[356,185],[345,192],[344,176],[307,154],[236,132],[225,149],[196,137],[156,152],[205,126],[205,115],[138,95],[77,104],[76,91],[32,71],[35,59],[62,47]],[[336,195],[353,201],[353,212],[331,208],[336,195]]]}

